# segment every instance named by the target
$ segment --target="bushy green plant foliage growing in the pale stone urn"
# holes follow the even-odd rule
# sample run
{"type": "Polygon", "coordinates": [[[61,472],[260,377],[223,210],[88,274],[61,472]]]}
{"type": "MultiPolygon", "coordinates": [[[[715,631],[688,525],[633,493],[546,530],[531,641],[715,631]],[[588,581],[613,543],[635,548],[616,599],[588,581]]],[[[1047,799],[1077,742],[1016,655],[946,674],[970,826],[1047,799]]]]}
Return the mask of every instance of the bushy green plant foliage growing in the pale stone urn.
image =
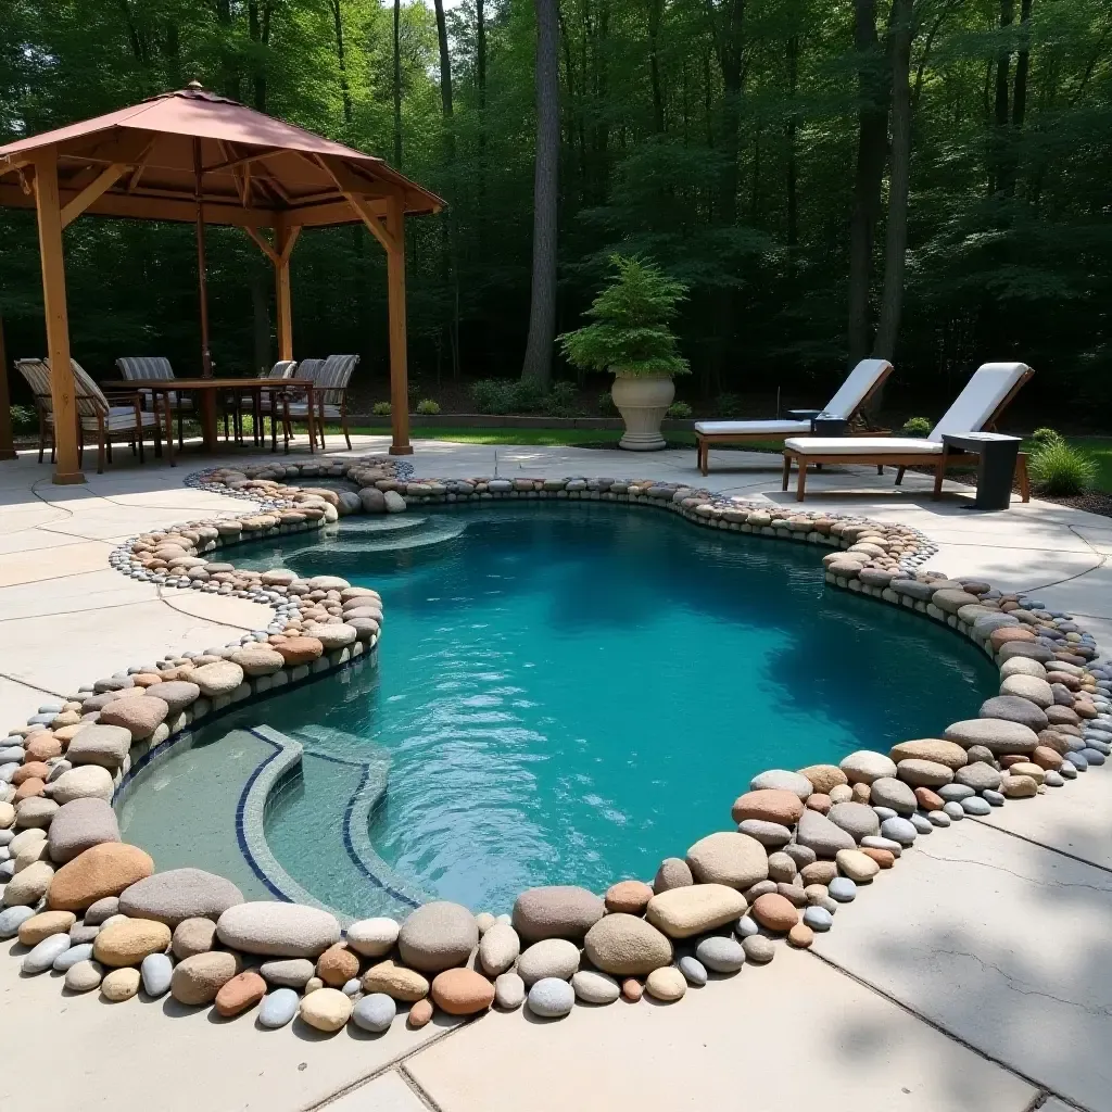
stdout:
{"type": "Polygon", "coordinates": [[[610,256],[615,274],[586,316],[594,321],[559,337],[568,361],[585,370],[623,375],[685,375],[668,327],[687,287],[637,256],[610,256]]]}

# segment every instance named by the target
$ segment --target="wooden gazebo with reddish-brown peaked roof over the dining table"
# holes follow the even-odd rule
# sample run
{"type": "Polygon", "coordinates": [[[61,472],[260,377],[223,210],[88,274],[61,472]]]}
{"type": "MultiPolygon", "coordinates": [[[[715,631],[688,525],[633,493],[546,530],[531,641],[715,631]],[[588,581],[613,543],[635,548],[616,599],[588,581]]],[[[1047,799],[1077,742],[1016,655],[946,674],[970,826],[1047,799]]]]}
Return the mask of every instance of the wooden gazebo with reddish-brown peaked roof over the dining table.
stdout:
{"type": "MultiPolygon", "coordinates": [[[[130,108],[0,147],[0,205],[38,215],[54,410],[56,483],[82,483],[69,374],[62,229],[82,212],[197,225],[201,364],[211,375],[205,225],[244,229],[271,260],[278,358],[294,358],[290,252],[302,228],[361,221],[386,250],[390,451],[407,455],[405,217],[443,201],[381,159],[257,112],[193,82],[130,108]]],[[[4,373],[7,368],[3,368],[4,373]]]]}

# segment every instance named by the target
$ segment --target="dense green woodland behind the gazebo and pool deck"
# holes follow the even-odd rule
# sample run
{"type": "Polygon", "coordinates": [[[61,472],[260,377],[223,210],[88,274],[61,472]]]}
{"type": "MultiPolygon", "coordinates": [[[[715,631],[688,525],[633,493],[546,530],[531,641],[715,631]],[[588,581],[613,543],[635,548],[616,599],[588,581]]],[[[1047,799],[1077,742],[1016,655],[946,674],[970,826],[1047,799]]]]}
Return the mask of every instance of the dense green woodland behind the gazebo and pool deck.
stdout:
{"type": "MultiPolygon", "coordinates": [[[[877,347],[949,395],[1011,358],[1071,408],[1112,393],[1106,0],[559,0],[558,31],[555,331],[619,251],[689,288],[674,327],[706,395],[877,347]]],[[[0,138],[196,78],[400,162],[449,206],[408,227],[411,377],[516,376],[535,59],[529,0],[9,0],[0,138]]],[[[41,355],[33,216],[0,211],[0,237],[9,354],[41,355]]],[[[191,228],[86,217],[66,248],[77,358],[197,369],[191,228]]],[[[269,266],[236,229],[208,255],[218,374],[268,363],[269,266]]],[[[385,376],[364,229],[304,236],[292,282],[296,354],[385,376]]]]}

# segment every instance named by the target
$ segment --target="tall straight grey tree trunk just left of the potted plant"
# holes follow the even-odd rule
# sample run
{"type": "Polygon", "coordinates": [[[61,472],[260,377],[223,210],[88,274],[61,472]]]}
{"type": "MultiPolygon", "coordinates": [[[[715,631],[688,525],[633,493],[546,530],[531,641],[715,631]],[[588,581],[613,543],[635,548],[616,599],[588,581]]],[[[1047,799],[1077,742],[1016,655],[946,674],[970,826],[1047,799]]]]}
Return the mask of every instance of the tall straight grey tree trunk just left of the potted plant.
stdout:
{"type": "Polygon", "coordinates": [[[537,17],[537,150],[533,182],[533,289],[522,378],[552,383],[556,334],[556,210],[559,187],[559,29],[556,0],[534,0],[537,17]]]}

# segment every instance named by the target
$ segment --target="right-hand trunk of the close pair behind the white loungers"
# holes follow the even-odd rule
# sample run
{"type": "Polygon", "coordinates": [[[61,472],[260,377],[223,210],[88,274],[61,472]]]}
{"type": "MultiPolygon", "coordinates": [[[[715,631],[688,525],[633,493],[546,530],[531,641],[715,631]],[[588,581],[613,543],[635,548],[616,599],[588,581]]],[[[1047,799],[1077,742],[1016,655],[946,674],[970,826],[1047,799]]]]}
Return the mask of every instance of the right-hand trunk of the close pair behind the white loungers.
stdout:
{"type": "Polygon", "coordinates": [[[914,0],[892,0],[892,165],[888,176],[888,220],[884,246],[881,320],[873,356],[892,360],[903,311],[904,262],[907,256],[907,195],[911,186],[911,42],[914,0]]]}

